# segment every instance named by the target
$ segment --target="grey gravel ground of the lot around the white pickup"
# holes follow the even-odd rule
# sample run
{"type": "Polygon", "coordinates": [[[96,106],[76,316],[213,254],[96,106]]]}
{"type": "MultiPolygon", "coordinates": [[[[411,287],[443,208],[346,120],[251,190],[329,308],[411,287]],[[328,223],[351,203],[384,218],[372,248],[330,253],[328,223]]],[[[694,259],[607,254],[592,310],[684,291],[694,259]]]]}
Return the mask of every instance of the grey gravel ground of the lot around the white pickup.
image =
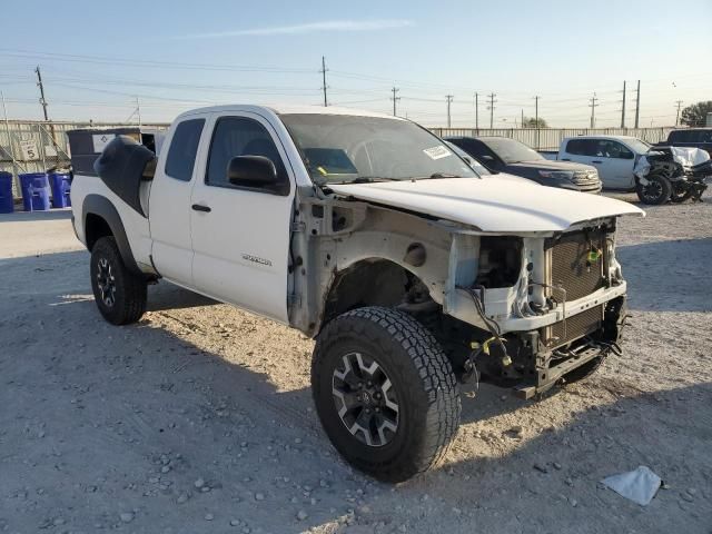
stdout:
{"type": "Polygon", "coordinates": [[[623,220],[624,357],[538,403],[464,389],[445,465],[398,486],[322,433],[312,340],[169,284],[110,326],[69,212],[0,217],[0,532],[709,534],[706,200],[623,220]],[[646,507],[597,482],[639,465],[646,507]]]}

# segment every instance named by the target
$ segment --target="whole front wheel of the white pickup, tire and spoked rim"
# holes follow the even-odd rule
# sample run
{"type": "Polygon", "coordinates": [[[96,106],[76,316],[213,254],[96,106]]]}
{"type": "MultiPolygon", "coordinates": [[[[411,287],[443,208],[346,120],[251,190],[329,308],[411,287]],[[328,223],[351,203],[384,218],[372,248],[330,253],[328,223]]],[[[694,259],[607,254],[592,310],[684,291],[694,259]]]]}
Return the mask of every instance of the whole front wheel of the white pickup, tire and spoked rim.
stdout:
{"type": "Polygon", "coordinates": [[[382,481],[436,465],[457,433],[461,402],[449,360],[403,312],[358,308],[326,325],[314,349],[312,390],[336,449],[382,481]]]}

